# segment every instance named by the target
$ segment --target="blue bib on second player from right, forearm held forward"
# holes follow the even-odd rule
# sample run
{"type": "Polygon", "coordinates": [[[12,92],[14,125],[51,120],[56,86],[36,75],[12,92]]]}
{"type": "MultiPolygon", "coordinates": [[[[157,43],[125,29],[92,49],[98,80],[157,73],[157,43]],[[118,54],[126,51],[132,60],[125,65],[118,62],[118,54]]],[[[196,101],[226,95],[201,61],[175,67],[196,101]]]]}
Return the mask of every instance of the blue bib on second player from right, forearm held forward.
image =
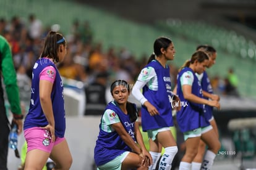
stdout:
{"type": "MultiPolygon", "coordinates": [[[[205,108],[204,105],[198,103],[192,103],[188,100],[184,99],[184,95],[182,92],[182,80],[192,79],[192,94],[197,95],[198,97],[203,97],[201,84],[198,81],[197,76],[194,71],[189,68],[183,68],[179,74],[177,75],[177,95],[182,103],[186,103],[186,105],[182,105],[181,110],[177,111],[177,123],[182,132],[192,131],[197,129],[198,127],[205,127],[210,125],[207,119],[205,119],[204,113],[205,108]]],[[[183,83],[187,84],[187,83],[183,83]]]]}

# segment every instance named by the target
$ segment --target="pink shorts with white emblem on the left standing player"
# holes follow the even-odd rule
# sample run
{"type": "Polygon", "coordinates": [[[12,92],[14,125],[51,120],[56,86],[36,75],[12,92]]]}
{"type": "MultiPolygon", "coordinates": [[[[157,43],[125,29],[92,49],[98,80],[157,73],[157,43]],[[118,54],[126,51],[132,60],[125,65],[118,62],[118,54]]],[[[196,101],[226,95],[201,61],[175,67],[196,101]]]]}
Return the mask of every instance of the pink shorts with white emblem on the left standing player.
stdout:
{"type": "Polygon", "coordinates": [[[24,136],[28,144],[27,152],[33,149],[38,149],[51,153],[51,150],[53,150],[55,145],[58,145],[65,140],[65,137],[56,137],[55,142],[51,142],[49,131],[41,127],[31,127],[26,129],[24,131],[24,136]]]}

